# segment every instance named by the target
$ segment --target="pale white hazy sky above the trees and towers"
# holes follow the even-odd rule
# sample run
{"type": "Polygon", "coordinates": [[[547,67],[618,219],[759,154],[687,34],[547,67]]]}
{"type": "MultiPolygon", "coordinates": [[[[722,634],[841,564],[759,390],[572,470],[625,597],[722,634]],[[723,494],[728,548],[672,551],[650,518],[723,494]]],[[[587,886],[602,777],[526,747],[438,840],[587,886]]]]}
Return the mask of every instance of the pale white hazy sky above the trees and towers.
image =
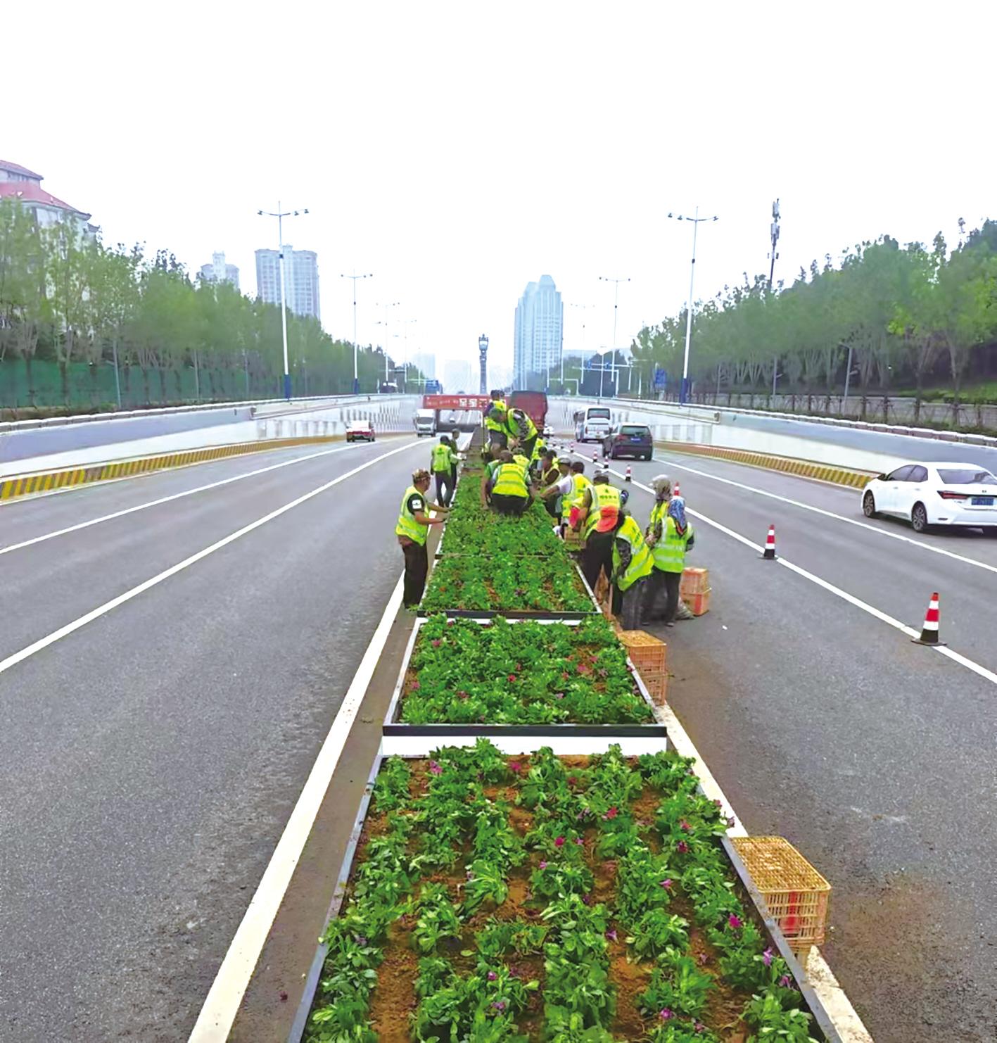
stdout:
{"type": "MultiPolygon", "coordinates": [[[[994,3],[320,5],[49,2],[3,16],[0,156],[91,211],[108,242],[223,249],[256,284],[258,209],[308,207],[322,320],[352,335],[340,272],[409,325],[410,351],[511,365],[527,282],[554,276],[565,347],[617,343],[688,294],[776,277],[889,232],[929,240],[997,216],[994,3]],[[154,10],[154,14],[153,14],[154,10]],[[21,43],[15,44],[16,41],[21,43]],[[28,42],[33,43],[28,46],[28,42]]],[[[398,341],[392,341],[392,353],[398,341]]],[[[438,372],[440,366],[438,365],[438,372]]]]}

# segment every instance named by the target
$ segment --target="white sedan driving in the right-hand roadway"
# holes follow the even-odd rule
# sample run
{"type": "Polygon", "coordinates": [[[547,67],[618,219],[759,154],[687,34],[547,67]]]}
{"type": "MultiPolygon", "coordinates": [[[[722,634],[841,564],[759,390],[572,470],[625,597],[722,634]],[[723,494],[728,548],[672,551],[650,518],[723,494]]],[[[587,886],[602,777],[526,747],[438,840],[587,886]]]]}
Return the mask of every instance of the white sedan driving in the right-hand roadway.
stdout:
{"type": "Polygon", "coordinates": [[[915,532],[965,526],[997,535],[997,478],[975,463],[905,463],[861,492],[868,518],[906,518],[915,532]]]}

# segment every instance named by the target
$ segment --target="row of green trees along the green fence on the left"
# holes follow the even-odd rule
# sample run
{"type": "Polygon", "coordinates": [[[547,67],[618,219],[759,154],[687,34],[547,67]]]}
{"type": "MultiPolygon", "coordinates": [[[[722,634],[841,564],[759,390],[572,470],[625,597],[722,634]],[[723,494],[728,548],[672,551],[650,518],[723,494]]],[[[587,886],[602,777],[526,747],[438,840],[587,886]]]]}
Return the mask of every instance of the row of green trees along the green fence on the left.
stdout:
{"type": "MultiPolygon", "coordinates": [[[[288,345],[297,393],[352,390],[352,344],[289,312],[288,345]]],[[[149,257],[138,245],[107,247],[69,223],[40,225],[19,201],[3,199],[0,362],[9,360],[23,363],[31,405],[35,360],[57,365],[66,406],[74,405],[70,371],[80,363],[95,371],[111,364],[123,381],[140,381],[140,393],[126,388],[132,402],[183,401],[191,387],[202,401],[241,397],[249,388],[277,395],[281,309],[227,283],[192,281],[167,250],[149,257]]],[[[394,381],[390,359],[387,369],[394,381]]],[[[362,348],[358,371],[361,390],[375,391],[386,373],[381,349],[362,348]]],[[[416,377],[408,372],[410,383],[416,377]]]]}

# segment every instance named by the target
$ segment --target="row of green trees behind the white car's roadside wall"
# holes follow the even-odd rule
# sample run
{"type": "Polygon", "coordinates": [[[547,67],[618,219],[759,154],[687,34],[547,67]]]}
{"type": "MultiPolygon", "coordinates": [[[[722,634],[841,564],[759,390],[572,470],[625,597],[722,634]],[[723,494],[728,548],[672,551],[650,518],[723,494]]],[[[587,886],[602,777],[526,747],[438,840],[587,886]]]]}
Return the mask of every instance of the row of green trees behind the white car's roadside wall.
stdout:
{"type": "MultiPolygon", "coordinates": [[[[976,359],[997,339],[997,222],[950,250],[883,236],[800,269],[792,285],[767,277],[724,287],[694,310],[689,377],[700,392],[834,393],[852,360],[859,393],[948,380],[955,401],[976,359]]],[[[682,373],[686,313],[645,328],[632,349],[650,375],[682,373]]],[[[989,356],[988,356],[989,358],[989,356]]],[[[977,367],[980,368],[980,367],[977,367]]],[[[645,385],[646,386],[646,385],[645,385]]]]}

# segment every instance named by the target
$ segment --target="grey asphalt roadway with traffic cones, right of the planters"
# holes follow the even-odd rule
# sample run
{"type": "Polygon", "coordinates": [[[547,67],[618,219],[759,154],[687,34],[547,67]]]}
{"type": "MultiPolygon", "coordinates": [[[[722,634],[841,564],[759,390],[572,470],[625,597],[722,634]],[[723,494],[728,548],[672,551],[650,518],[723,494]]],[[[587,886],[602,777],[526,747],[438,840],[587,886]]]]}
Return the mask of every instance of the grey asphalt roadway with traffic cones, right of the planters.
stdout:
{"type": "MultiPolygon", "coordinates": [[[[611,464],[621,478],[628,462],[611,464]]],[[[873,1038],[993,1043],[997,678],[868,608],[920,630],[937,590],[943,640],[997,671],[997,540],[919,537],[867,522],[855,490],[737,464],[631,466],[645,485],[678,479],[704,516],[687,563],[710,568],[712,608],[651,628],[670,645],[670,702],[749,832],[787,836],[832,883],[823,951],[873,1038]],[[705,519],[759,547],[775,524],[780,556],[868,608],[705,519]]],[[[646,522],[652,496],[631,496],[646,522]]]]}

